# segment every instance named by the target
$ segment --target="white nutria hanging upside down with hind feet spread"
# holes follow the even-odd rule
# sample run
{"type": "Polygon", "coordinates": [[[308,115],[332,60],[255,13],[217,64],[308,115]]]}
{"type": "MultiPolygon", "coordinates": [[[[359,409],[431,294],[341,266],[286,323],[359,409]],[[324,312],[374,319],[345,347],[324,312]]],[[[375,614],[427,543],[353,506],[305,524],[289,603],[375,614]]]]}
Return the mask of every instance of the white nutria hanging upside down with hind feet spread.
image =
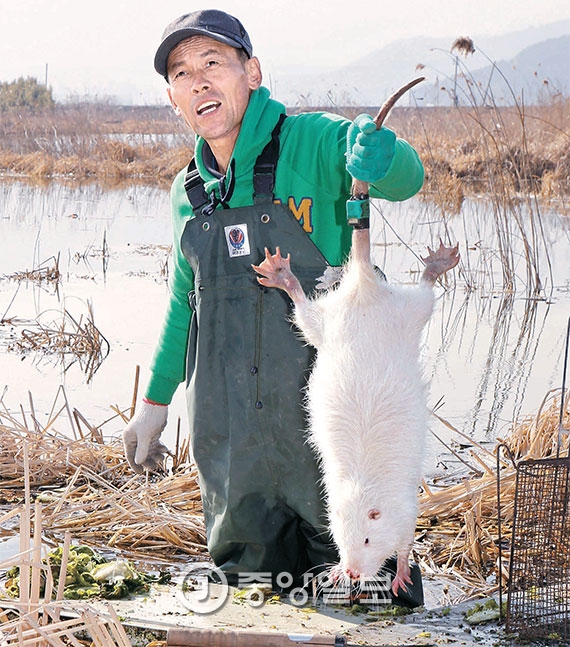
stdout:
{"type": "Polygon", "coordinates": [[[303,293],[279,248],[253,266],[262,285],[289,294],[295,324],[317,349],[306,394],[308,437],[340,555],[336,578],[374,577],[397,553],[392,590],[411,583],[428,416],[420,343],[433,285],[457,264],[457,249],[428,248],[420,285],[396,287],[371,263],[368,230],[355,229],[340,283],[315,298],[303,293]]]}

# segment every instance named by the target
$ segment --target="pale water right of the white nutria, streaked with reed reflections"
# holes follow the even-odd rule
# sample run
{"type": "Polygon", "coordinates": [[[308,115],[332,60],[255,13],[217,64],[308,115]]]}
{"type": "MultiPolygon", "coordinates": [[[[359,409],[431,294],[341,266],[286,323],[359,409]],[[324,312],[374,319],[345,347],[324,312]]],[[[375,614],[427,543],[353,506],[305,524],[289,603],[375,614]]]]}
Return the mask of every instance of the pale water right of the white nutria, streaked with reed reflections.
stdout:
{"type": "MultiPolygon", "coordinates": [[[[427,245],[433,246],[440,236],[460,242],[460,269],[436,288],[437,307],[427,334],[431,402],[439,403],[438,415],[470,437],[494,440],[512,421],[533,414],[552,388],[560,387],[570,310],[567,219],[555,211],[541,212],[540,239],[531,231],[536,259],[530,268],[528,240],[520,235],[510,239],[510,249],[503,253],[515,268],[513,282],[499,252],[505,245],[504,231],[497,228],[488,203],[467,200],[460,217],[451,219],[429,205],[409,207],[410,203],[377,206],[376,262],[390,281],[414,284],[421,272],[418,257],[427,245]],[[541,272],[538,280],[536,271],[541,272]],[[505,281],[511,289],[504,289],[505,281]],[[537,282],[543,288],[538,295],[537,282]]],[[[437,428],[437,433],[450,435],[446,428],[437,428]]]]}

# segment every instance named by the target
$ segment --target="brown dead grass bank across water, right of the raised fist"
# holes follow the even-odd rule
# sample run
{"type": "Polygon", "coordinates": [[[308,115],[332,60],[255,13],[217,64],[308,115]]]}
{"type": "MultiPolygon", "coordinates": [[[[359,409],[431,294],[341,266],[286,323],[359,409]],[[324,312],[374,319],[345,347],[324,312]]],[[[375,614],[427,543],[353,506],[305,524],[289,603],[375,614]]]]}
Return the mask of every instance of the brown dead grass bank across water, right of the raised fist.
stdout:
{"type": "Polygon", "coordinates": [[[387,124],[413,143],[424,195],[570,193],[570,99],[529,107],[396,108],[387,124]],[[460,187],[460,188],[458,188],[460,187]]]}

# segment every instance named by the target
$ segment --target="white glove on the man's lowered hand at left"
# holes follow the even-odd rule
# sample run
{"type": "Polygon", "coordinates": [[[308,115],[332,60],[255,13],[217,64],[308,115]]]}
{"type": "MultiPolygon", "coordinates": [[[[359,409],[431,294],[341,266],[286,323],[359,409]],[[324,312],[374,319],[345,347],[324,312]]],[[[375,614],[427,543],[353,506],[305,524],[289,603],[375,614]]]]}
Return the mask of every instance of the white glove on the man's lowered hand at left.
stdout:
{"type": "Polygon", "coordinates": [[[160,434],[166,427],[168,406],[142,400],[135,415],[123,431],[125,456],[137,474],[144,470],[156,470],[168,453],[160,442],[160,434]]]}

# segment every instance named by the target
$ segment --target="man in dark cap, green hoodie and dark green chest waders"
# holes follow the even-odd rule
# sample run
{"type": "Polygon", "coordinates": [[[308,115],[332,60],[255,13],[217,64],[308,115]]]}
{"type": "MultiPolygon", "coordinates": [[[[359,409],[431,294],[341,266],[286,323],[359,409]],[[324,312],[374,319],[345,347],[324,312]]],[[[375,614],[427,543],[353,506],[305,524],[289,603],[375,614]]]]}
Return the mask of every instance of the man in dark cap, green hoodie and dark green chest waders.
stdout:
{"type": "Polygon", "coordinates": [[[287,588],[337,554],[303,431],[311,350],[291,329],[288,297],[260,286],[251,265],[279,246],[314,289],[349,251],[351,173],[371,195],[404,200],[423,167],[390,130],[361,132],[369,116],[360,127],[324,113],[285,117],[243,25],[224,12],[171,23],[154,65],[196,146],[172,185],[172,295],[126,456],[139,473],[162,461],[167,405],[186,378],[210,555],[230,583],[269,574],[287,588]]]}

